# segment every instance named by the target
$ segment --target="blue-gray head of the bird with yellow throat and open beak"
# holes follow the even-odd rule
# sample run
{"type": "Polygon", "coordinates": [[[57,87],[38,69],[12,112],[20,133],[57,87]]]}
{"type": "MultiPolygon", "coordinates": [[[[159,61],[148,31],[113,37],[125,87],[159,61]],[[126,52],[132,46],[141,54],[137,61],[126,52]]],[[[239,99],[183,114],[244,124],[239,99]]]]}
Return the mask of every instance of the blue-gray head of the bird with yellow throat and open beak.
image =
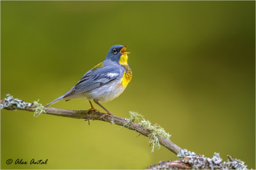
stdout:
{"type": "Polygon", "coordinates": [[[108,51],[108,55],[106,59],[112,60],[113,62],[118,62],[122,65],[127,65],[127,60],[129,52],[126,52],[126,48],[128,45],[114,45],[108,51]]]}

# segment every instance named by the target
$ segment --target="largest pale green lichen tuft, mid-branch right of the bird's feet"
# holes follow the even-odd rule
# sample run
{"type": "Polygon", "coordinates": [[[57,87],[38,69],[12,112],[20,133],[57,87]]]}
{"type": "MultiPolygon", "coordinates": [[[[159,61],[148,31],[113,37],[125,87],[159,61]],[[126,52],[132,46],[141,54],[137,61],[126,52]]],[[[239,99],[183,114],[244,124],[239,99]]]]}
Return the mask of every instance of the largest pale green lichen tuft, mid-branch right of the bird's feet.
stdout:
{"type": "Polygon", "coordinates": [[[129,111],[129,115],[129,120],[136,122],[137,124],[147,128],[150,131],[150,134],[148,134],[148,143],[150,144],[150,146],[152,146],[151,152],[154,152],[154,148],[156,146],[159,149],[161,148],[158,136],[162,136],[165,139],[170,138],[171,135],[165,132],[163,127],[158,124],[151,125],[151,122],[149,122],[149,120],[145,120],[145,118],[143,118],[143,115],[140,115],[139,113],[136,113],[134,111],[129,111]]]}

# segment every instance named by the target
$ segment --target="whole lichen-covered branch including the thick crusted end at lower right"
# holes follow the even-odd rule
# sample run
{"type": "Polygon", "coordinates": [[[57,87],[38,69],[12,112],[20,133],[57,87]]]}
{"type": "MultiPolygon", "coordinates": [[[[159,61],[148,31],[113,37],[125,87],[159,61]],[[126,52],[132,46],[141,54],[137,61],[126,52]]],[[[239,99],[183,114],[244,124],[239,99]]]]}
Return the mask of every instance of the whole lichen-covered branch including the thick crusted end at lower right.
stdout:
{"type": "Polygon", "coordinates": [[[130,112],[131,118],[127,119],[116,117],[115,115],[106,115],[106,113],[100,113],[93,110],[45,108],[42,104],[38,104],[36,101],[34,103],[26,103],[20,99],[13,99],[10,94],[7,95],[6,99],[1,100],[1,109],[33,111],[34,116],[44,113],[60,117],[80,118],[88,121],[100,120],[109,122],[139,132],[140,134],[143,134],[143,136],[150,138],[150,143],[153,145],[153,148],[154,145],[159,145],[160,143],[168,148],[168,150],[175,153],[177,157],[181,158],[180,160],[160,162],[147,169],[247,169],[247,166],[244,165],[243,161],[234,159],[229,155],[227,156],[227,162],[223,162],[219,153],[214,153],[212,158],[208,158],[204,155],[196,155],[195,152],[180,148],[168,139],[170,135],[166,133],[163,128],[157,124],[151,125],[148,120],[145,120],[141,115],[138,115],[138,113],[134,114],[130,112]],[[133,118],[132,114],[134,114],[133,118]],[[140,120],[140,122],[138,120],[140,120]],[[136,122],[139,123],[136,124],[136,122]]]}

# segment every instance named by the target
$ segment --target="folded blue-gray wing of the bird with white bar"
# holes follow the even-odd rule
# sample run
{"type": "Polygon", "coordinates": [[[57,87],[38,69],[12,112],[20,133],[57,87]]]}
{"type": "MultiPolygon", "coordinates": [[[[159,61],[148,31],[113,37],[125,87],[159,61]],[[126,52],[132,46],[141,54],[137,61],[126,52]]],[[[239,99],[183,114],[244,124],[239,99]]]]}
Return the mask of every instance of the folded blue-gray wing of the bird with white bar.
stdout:
{"type": "Polygon", "coordinates": [[[120,69],[116,66],[103,66],[98,69],[91,69],[77,82],[68,94],[64,97],[81,92],[88,92],[98,87],[102,87],[111,81],[116,80],[120,76],[120,69]]]}

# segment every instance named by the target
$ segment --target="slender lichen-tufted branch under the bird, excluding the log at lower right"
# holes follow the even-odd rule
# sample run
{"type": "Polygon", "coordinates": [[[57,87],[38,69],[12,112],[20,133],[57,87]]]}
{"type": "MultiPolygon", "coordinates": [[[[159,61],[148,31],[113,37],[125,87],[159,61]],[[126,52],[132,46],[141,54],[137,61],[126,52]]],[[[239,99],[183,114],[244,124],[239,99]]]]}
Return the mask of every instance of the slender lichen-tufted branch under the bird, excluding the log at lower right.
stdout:
{"type": "Polygon", "coordinates": [[[145,120],[142,115],[132,111],[130,111],[130,118],[120,118],[114,115],[102,117],[105,113],[95,111],[87,112],[86,110],[62,110],[51,107],[45,108],[42,104],[38,103],[38,101],[34,101],[33,104],[25,103],[22,100],[13,99],[10,95],[7,95],[7,98],[1,101],[1,109],[33,111],[34,117],[38,117],[41,113],[45,113],[61,117],[83,118],[84,120],[101,120],[111,124],[120,125],[121,127],[127,127],[128,129],[132,129],[133,131],[147,136],[150,139],[148,142],[152,145],[152,152],[154,152],[155,146],[160,148],[161,145],[165,146],[175,154],[181,150],[179,146],[169,140],[170,134],[166,133],[162,127],[157,124],[151,125],[151,123],[148,120],[145,120]]]}

